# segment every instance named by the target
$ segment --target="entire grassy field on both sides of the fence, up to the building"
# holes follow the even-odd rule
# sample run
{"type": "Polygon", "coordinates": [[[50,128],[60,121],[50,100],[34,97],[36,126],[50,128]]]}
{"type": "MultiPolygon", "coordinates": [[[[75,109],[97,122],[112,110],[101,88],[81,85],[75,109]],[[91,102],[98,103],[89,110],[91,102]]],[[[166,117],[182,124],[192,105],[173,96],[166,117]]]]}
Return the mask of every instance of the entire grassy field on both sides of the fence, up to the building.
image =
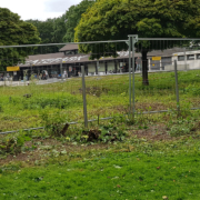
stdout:
{"type": "Polygon", "coordinates": [[[89,129],[80,78],[0,88],[0,130],[20,130],[0,136],[0,199],[200,199],[199,72],[179,72],[180,113],[172,72],[137,74],[133,121],[127,74],[87,78],[89,119],[113,117],[89,129]]]}

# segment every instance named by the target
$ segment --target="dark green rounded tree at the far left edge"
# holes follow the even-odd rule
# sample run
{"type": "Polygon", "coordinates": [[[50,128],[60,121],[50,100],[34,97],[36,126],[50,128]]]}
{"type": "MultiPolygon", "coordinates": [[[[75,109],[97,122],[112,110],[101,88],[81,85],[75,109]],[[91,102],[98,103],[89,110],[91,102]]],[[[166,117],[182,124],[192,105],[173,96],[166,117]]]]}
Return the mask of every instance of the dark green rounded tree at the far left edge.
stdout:
{"type": "MultiPolygon", "coordinates": [[[[0,46],[19,46],[39,43],[38,30],[31,23],[20,20],[17,13],[0,8],[0,46]]],[[[23,62],[31,53],[31,48],[0,49],[0,70],[23,62]]]]}

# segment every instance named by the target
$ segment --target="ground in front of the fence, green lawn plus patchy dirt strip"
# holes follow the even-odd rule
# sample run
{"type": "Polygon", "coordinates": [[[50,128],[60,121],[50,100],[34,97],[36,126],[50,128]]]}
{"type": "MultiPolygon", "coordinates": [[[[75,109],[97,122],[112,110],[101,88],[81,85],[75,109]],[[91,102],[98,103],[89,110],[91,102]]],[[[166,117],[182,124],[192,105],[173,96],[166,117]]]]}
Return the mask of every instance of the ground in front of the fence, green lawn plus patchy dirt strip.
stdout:
{"type": "Polygon", "coordinates": [[[129,131],[117,142],[76,142],[74,127],[70,140],[16,133],[22,152],[0,160],[0,199],[198,200],[199,110],[174,114],[137,118],[134,124],[112,120],[110,128],[129,131]]]}

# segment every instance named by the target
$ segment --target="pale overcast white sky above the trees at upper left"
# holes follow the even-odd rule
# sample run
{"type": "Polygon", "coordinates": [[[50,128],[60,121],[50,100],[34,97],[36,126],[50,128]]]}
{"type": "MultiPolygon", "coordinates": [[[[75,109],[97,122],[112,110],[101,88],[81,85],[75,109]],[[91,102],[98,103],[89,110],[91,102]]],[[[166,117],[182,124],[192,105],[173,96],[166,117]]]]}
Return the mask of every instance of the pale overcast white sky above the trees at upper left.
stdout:
{"type": "Polygon", "coordinates": [[[1,8],[18,13],[22,20],[46,20],[62,16],[71,6],[81,0],[0,0],[1,8]]]}

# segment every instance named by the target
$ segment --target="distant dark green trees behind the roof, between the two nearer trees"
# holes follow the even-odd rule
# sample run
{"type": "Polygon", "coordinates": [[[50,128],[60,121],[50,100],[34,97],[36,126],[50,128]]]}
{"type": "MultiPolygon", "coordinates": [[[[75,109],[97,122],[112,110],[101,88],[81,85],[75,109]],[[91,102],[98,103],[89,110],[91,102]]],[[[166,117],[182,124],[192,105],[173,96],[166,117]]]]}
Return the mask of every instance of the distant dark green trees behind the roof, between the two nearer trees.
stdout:
{"type": "MultiPolygon", "coordinates": [[[[91,7],[94,1],[83,0],[77,6],[72,6],[59,18],[47,19],[46,21],[40,20],[27,20],[37,27],[39,37],[41,38],[40,43],[61,43],[61,42],[73,42],[74,41],[74,28],[78,26],[81,14],[91,7]]],[[[48,47],[38,48],[34,53],[49,53],[58,52],[60,47],[48,47]]]]}

